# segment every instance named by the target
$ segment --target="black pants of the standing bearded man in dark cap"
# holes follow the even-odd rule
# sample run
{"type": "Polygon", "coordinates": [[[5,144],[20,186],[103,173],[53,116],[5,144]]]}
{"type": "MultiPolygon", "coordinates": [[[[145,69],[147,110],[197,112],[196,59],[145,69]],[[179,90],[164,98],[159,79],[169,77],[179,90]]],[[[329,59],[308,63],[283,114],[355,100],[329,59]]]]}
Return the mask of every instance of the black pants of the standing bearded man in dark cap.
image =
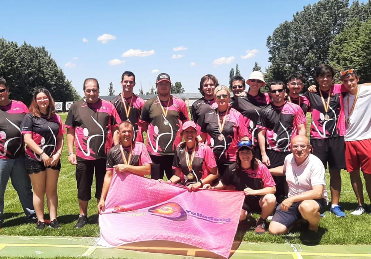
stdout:
{"type": "Polygon", "coordinates": [[[151,165],[151,178],[162,179],[164,178],[164,171],[167,179],[173,176],[173,159],[174,155],[150,155],[152,159],[151,165]]]}

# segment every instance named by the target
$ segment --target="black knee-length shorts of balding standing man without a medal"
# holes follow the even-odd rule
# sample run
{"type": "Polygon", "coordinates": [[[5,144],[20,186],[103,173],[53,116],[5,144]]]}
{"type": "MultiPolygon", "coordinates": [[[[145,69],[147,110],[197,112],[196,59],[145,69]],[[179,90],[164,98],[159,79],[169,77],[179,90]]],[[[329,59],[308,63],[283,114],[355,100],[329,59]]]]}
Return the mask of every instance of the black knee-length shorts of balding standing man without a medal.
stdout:
{"type": "Polygon", "coordinates": [[[89,201],[92,198],[93,175],[95,172],[95,198],[100,199],[104,176],[106,175],[106,159],[77,161],[76,181],[77,198],[89,201]]]}

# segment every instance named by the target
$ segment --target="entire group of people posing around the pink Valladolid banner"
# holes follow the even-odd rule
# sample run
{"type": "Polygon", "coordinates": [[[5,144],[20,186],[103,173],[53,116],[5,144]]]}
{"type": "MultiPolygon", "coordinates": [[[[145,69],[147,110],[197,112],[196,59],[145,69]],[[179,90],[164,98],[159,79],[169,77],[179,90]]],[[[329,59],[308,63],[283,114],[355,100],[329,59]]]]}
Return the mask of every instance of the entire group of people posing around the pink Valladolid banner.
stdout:
{"type": "Polygon", "coordinates": [[[36,212],[37,228],[45,227],[46,193],[49,226],[60,228],[56,187],[66,127],[68,161],[76,165],[80,208],[75,228],[88,223],[94,172],[99,212],[105,209],[112,174],[131,172],[159,181],[165,174],[168,182],[185,185],[189,191],[243,191],[246,198],[240,221],[259,212],[257,234],[286,233],[303,218],[309,223],[307,239],[313,239],[329,203],[327,164],[330,211],[336,216],[345,216],[339,205],[341,169],[350,172],[358,199],[359,206],[351,214],[366,212],[360,168],[371,196],[371,155],[367,152],[371,147],[371,115],[367,112],[371,88],[358,85],[354,69],[341,72],[342,84],[332,84],[334,76],[332,67],[319,65],[318,88],[312,86],[299,95],[306,83],[301,74],[290,75],[286,84],[272,81],[268,93],[260,90],[266,82],[259,71],[253,71],[246,81],[233,77],[229,87],[207,74],[201,78],[202,98],[193,103],[190,120],[185,102],[170,94],[168,74],[158,75],[158,94],[144,101],[133,93],[134,73],[125,71],[122,92],[111,101],[100,99],[98,80],[87,78],[85,98],[73,103],[64,125],[49,91],[37,90],[29,111],[22,102],[9,100],[9,88],[1,78],[0,222],[10,176],[27,219],[35,218],[36,212]],[[307,112],[312,116],[310,142],[307,112]],[[146,145],[143,132],[147,132],[146,145]],[[27,145],[25,159],[21,134],[27,145]],[[23,171],[18,169],[22,166],[23,171]],[[267,229],[266,219],[272,214],[267,229]]]}

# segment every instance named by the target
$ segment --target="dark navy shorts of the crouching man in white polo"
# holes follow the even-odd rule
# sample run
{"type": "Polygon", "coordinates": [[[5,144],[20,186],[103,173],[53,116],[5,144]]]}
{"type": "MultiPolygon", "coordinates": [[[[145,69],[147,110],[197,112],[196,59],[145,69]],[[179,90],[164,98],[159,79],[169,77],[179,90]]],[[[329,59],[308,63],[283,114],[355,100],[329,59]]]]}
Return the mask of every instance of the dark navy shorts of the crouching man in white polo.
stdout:
{"type": "MultiPolygon", "coordinates": [[[[322,214],[327,209],[327,201],[324,198],[314,200],[319,205],[319,213],[322,214]]],[[[281,204],[277,206],[275,215],[273,215],[272,221],[279,222],[282,225],[286,226],[286,228],[290,228],[298,219],[301,219],[302,216],[299,212],[299,205],[302,203],[294,202],[292,203],[291,207],[288,211],[281,210],[281,204]]]]}

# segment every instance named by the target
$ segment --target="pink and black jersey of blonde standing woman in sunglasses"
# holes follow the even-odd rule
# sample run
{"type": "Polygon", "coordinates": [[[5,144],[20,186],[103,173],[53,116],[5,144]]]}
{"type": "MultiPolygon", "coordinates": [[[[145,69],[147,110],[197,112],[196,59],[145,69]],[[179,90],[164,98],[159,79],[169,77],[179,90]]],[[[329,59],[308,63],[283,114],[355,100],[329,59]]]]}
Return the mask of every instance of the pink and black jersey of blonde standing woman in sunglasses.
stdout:
{"type": "Polygon", "coordinates": [[[210,135],[210,147],[217,161],[236,161],[239,138],[246,137],[248,134],[243,116],[234,108],[230,108],[228,114],[220,112],[220,118],[227,116],[223,130],[220,132],[217,110],[201,115],[197,123],[201,127],[201,132],[210,135]],[[220,134],[223,134],[223,140],[218,139],[220,134]]]}

